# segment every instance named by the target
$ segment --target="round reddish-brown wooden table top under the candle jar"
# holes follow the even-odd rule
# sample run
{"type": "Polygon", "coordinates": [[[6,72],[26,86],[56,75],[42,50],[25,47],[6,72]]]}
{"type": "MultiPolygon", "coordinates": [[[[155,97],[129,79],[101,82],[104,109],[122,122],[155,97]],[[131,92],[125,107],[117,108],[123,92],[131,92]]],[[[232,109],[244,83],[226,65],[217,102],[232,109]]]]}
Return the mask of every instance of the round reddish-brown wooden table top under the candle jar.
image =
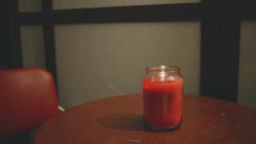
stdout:
{"type": "Polygon", "coordinates": [[[181,128],[143,126],[142,95],[75,106],[46,121],[34,143],[256,143],[256,111],[208,97],[184,95],[181,128]]]}

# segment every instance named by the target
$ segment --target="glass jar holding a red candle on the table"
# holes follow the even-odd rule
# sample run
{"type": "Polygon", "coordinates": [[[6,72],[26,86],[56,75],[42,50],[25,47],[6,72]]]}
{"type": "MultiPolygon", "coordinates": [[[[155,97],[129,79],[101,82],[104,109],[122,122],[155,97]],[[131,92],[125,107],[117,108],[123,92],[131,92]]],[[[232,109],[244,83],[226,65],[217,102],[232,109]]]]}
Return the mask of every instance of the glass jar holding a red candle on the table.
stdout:
{"type": "Polygon", "coordinates": [[[143,78],[144,124],[154,131],[178,129],[182,123],[183,76],[180,68],[149,67],[143,78]]]}

